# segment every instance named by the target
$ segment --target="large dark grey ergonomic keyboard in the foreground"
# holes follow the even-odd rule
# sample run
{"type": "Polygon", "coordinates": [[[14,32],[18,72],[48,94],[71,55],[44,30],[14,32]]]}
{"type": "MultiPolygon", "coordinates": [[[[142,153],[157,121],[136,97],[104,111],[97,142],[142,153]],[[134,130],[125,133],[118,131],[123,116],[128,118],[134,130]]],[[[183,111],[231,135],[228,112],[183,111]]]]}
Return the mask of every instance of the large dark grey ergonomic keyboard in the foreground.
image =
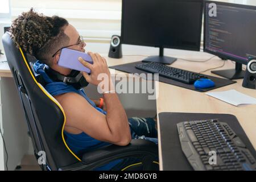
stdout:
{"type": "Polygon", "coordinates": [[[177,123],[183,153],[195,170],[256,170],[255,159],[227,123],[218,119],[177,123]],[[214,162],[215,160],[215,162],[214,162]]]}

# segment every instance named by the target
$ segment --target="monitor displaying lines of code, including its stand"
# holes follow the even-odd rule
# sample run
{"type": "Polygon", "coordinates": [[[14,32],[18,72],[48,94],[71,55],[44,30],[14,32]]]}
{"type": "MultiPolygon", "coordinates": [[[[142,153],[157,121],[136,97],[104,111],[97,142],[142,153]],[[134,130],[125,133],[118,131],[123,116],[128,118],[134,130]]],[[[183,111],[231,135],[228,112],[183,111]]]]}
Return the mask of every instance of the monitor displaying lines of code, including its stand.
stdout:
{"type": "Polygon", "coordinates": [[[222,59],[236,61],[236,69],[212,73],[231,80],[243,78],[245,72],[242,71],[242,64],[247,64],[248,57],[256,57],[255,22],[255,6],[205,1],[204,51],[222,59]],[[216,16],[213,16],[214,6],[210,3],[216,5],[216,16]]]}

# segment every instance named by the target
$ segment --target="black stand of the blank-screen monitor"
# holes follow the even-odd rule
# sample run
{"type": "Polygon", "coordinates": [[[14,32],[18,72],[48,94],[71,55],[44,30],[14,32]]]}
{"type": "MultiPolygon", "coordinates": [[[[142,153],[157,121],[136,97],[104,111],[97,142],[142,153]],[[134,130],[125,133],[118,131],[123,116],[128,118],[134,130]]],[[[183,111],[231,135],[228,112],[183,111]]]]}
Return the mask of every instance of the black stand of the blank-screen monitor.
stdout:
{"type": "Polygon", "coordinates": [[[172,64],[176,61],[175,57],[168,57],[163,55],[163,47],[159,47],[159,56],[149,56],[146,59],[143,59],[142,62],[156,62],[163,64],[172,64]]]}

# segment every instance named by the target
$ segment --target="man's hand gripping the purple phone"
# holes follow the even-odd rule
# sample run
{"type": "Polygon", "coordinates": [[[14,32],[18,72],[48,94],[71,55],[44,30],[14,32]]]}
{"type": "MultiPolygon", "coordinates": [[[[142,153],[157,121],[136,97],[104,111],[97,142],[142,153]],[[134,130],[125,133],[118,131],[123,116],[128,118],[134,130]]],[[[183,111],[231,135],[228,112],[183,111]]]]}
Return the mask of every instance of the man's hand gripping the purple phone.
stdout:
{"type": "Polygon", "coordinates": [[[98,53],[88,52],[88,55],[92,57],[93,64],[90,64],[79,57],[80,63],[84,65],[86,68],[90,69],[90,75],[86,72],[82,72],[82,75],[85,77],[86,81],[90,84],[98,86],[102,80],[98,80],[98,75],[100,73],[105,73],[105,77],[110,81],[110,72],[108,68],[108,64],[106,63],[106,59],[101,57],[98,53]]]}

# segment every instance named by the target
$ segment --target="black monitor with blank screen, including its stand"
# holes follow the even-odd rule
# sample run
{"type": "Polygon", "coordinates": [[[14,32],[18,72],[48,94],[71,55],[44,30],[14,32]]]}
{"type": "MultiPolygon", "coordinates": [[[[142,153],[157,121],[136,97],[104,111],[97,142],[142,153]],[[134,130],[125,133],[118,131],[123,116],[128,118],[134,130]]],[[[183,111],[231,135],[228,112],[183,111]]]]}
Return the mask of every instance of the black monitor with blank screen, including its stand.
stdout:
{"type": "Polygon", "coordinates": [[[203,0],[122,0],[122,44],[159,47],[143,61],[171,64],[163,48],[200,51],[203,0]]]}

